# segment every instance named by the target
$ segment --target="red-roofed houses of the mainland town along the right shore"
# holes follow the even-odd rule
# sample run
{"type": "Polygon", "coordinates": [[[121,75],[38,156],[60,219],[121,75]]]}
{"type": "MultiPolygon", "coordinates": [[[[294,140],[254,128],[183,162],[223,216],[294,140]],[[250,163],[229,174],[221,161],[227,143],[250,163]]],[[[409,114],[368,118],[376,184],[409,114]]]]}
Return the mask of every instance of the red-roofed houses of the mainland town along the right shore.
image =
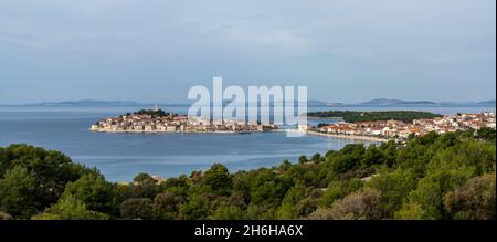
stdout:
{"type": "Polygon", "coordinates": [[[443,117],[414,119],[412,123],[401,120],[338,122],[313,127],[310,130],[340,136],[406,139],[411,134],[424,136],[431,131],[445,134],[457,130],[478,130],[484,127],[495,129],[495,112],[444,115],[443,117]]]}

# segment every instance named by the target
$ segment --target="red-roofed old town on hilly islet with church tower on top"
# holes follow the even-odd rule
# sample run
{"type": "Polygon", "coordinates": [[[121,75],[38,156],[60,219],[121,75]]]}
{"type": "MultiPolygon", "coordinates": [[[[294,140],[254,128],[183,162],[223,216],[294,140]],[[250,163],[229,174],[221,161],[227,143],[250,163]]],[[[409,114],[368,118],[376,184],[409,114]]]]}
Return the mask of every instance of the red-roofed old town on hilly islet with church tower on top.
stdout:
{"type": "Polygon", "coordinates": [[[276,125],[245,123],[244,120],[210,120],[166,113],[157,107],[150,111],[107,117],[92,125],[89,130],[103,133],[230,133],[248,134],[276,129],[276,125]]]}

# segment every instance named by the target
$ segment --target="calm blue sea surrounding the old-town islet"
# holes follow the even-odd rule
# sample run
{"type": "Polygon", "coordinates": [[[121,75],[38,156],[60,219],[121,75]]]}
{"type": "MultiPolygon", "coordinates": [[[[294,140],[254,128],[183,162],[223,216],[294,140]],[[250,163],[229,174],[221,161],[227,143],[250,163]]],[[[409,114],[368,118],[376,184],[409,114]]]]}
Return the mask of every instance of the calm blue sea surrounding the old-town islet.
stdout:
{"type": "MultiPolygon", "coordinates": [[[[144,106],[0,106],[0,146],[29,144],[59,150],[73,161],[97,168],[107,180],[131,181],[146,172],[162,178],[205,170],[214,162],[231,171],[273,167],[302,155],[321,155],[347,144],[363,143],[321,136],[287,137],[286,133],[252,134],[106,134],[88,128],[97,120],[144,106]]],[[[147,107],[151,108],[151,107],[147,107]]],[[[160,106],[186,114],[184,106],[160,106]]],[[[308,111],[412,109],[438,114],[495,112],[495,107],[308,107],[308,111]]],[[[309,119],[309,124],[339,119],[309,119]]],[[[370,145],[366,143],[364,145],[370,145]]]]}

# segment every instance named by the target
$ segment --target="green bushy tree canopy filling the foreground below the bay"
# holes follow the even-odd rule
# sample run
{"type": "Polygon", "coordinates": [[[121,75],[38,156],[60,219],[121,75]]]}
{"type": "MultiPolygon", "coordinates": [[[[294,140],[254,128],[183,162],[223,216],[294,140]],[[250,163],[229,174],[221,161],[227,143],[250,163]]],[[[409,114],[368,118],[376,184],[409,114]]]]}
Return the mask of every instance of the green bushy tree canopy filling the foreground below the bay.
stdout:
{"type": "Polygon", "coordinates": [[[108,182],[57,151],[0,148],[0,219],[496,219],[495,130],[347,145],[267,169],[108,182]]]}

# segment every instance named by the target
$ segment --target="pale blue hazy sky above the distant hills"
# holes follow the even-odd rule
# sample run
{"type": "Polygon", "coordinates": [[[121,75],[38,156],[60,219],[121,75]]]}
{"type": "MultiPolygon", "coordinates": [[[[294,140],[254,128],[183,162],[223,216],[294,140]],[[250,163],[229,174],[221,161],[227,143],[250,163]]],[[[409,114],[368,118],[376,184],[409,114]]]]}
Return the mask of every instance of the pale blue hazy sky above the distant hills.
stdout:
{"type": "Polygon", "coordinates": [[[496,97],[495,0],[0,0],[0,104],[180,103],[194,85],[356,103],[496,97]]]}

